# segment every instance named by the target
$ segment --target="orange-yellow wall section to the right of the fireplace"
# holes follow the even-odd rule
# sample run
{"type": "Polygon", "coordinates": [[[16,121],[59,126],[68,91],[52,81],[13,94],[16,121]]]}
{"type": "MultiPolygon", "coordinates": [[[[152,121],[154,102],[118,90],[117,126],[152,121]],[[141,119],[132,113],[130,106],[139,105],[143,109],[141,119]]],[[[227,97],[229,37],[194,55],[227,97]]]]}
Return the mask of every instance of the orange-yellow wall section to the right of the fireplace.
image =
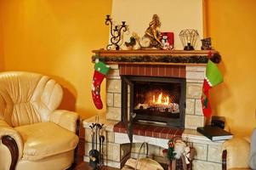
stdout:
{"type": "Polygon", "coordinates": [[[225,82],[212,89],[216,115],[231,131],[249,135],[256,127],[256,1],[206,0],[207,34],[222,56],[225,82]]]}

